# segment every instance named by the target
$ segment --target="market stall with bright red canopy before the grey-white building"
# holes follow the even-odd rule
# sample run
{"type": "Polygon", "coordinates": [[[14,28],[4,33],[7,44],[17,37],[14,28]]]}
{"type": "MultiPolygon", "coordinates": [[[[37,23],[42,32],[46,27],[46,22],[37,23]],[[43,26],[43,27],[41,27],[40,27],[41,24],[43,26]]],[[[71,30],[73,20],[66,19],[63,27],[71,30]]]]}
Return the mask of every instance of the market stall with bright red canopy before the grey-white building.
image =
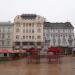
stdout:
{"type": "Polygon", "coordinates": [[[48,49],[48,59],[49,59],[49,62],[51,63],[60,63],[61,62],[61,57],[62,57],[62,54],[61,52],[63,52],[63,50],[61,48],[55,48],[55,47],[52,47],[52,48],[49,48],[48,49]]]}

